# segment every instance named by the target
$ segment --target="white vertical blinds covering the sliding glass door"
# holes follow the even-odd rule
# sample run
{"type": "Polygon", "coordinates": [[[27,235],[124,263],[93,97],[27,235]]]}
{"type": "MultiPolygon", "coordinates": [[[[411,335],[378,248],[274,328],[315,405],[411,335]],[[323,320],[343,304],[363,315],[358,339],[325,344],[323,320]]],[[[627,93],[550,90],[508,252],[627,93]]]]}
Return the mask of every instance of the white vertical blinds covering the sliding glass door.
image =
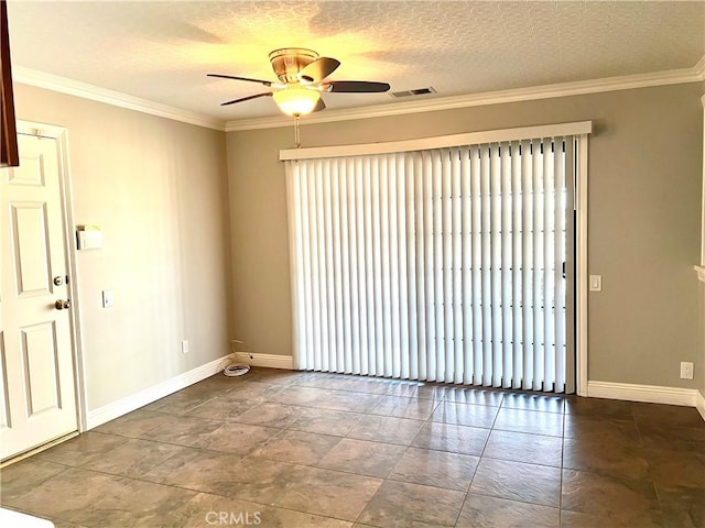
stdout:
{"type": "Polygon", "coordinates": [[[572,392],[573,141],[286,162],[297,367],[572,392]]]}

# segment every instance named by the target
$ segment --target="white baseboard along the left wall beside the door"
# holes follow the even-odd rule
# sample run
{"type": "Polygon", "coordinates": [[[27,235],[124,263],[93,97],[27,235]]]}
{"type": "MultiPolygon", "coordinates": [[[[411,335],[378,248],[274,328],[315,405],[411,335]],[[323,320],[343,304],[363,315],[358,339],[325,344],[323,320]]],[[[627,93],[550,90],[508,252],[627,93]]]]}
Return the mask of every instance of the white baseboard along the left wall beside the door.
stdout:
{"type": "Polygon", "coordinates": [[[227,365],[227,360],[230,355],[218,358],[205,365],[197,366],[188,372],[184,372],[175,377],[166,380],[162,383],[144,388],[138,393],[126,396],[124,398],[112,402],[111,404],[104,405],[97,409],[88,413],[87,429],[101,426],[110,420],[115,420],[122,415],[139,409],[152,402],[156,402],[164,396],[186,388],[194,383],[198,383],[206,377],[210,377],[214,374],[220,372],[227,365]]]}

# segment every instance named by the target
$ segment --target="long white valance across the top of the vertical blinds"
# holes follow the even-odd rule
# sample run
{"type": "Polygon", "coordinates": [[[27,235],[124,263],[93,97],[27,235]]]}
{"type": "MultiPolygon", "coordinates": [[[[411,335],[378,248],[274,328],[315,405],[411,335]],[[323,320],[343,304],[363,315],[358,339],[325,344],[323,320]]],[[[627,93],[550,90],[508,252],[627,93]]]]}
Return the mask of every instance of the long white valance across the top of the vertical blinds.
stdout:
{"type": "Polygon", "coordinates": [[[592,121],[578,121],[573,123],[438,135],[434,138],[420,138],[416,140],[388,141],[383,143],[317,146],[312,148],[283,148],[279,151],[279,158],[280,161],[289,161],[315,160],[321,157],[366,156],[371,154],[446,148],[456,145],[477,145],[480,143],[494,143],[511,140],[533,140],[536,138],[551,138],[556,135],[581,135],[589,134],[592,131],[592,121]]]}

